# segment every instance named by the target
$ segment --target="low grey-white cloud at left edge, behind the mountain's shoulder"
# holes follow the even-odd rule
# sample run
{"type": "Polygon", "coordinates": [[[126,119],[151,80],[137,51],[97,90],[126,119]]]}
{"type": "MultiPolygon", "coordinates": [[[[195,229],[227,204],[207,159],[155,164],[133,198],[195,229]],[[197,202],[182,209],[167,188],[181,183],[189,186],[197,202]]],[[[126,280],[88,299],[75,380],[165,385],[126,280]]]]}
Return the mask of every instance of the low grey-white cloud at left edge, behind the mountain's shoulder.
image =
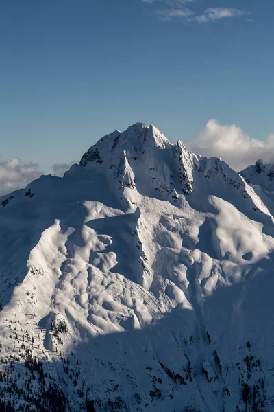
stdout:
{"type": "Polygon", "coordinates": [[[23,163],[16,158],[0,161],[0,195],[25,187],[40,175],[38,163],[23,163]]]}

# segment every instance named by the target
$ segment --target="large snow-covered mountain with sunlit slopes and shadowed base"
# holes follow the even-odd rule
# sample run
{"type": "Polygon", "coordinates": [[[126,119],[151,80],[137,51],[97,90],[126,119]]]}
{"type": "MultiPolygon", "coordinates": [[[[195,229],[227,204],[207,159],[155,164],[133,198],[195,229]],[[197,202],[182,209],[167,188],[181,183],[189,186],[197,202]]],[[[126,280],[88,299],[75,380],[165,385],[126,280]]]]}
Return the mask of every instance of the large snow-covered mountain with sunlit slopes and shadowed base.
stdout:
{"type": "Polygon", "coordinates": [[[0,410],[273,411],[274,208],[245,179],[138,123],[2,196],[0,410]]]}

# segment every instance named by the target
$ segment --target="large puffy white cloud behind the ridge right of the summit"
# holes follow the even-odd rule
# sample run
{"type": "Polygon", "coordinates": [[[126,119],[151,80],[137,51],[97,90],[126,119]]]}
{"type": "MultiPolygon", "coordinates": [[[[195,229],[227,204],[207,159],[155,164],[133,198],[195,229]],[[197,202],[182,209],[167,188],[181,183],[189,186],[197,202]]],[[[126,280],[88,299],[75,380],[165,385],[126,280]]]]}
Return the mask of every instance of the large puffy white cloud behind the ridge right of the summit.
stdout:
{"type": "Polygon", "coordinates": [[[252,139],[235,124],[221,126],[214,119],[186,146],[199,155],[221,157],[238,172],[258,159],[264,163],[274,162],[274,133],[265,140],[252,139]]]}

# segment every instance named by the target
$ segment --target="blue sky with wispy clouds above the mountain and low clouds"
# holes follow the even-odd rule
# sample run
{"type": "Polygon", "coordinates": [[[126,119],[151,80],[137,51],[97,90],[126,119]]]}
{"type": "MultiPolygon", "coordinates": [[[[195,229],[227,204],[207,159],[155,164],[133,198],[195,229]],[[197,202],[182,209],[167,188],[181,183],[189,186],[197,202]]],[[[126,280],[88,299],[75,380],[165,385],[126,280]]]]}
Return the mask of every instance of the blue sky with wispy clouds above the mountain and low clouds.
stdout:
{"type": "Polygon", "coordinates": [[[270,0],[3,0],[0,155],[51,172],[135,122],[171,141],[208,120],[273,124],[270,0]]]}

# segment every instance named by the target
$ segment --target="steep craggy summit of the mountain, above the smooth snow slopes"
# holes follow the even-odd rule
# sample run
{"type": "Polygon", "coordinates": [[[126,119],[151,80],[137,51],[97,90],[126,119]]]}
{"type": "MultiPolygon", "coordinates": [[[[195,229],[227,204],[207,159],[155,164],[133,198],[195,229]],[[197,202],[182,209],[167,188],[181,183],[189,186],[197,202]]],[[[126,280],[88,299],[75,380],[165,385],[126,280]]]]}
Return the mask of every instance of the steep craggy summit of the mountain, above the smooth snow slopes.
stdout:
{"type": "Polygon", "coordinates": [[[86,179],[91,171],[92,175],[103,176],[125,209],[135,209],[139,195],[177,206],[182,203],[177,202],[179,196],[190,196],[195,205],[201,203],[199,207],[203,209],[201,193],[232,198],[235,204],[238,196],[248,198],[250,216],[255,219],[255,211],[263,209],[242,177],[220,158],[207,159],[188,152],[180,140],[171,144],[153,124],[138,122],[124,132],[115,130],[105,135],[66,176],[84,172],[86,179]]]}

